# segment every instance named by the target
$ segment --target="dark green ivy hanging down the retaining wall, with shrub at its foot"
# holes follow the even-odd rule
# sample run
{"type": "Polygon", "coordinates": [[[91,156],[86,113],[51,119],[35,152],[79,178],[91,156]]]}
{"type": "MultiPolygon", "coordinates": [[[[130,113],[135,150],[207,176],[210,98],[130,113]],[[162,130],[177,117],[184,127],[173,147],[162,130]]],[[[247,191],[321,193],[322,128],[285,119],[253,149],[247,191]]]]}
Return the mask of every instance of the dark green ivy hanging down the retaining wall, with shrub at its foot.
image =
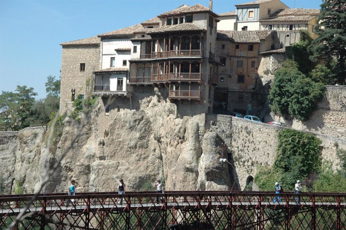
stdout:
{"type": "Polygon", "coordinates": [[[315,136],[293,129],[279,133],[277,155],[273,167],[260,167],[255,182],[261,190],[273,190],[278,181],[285,191],[293,190],[297,179],[303,180],[321,168],[319,146],[315,136]]]}

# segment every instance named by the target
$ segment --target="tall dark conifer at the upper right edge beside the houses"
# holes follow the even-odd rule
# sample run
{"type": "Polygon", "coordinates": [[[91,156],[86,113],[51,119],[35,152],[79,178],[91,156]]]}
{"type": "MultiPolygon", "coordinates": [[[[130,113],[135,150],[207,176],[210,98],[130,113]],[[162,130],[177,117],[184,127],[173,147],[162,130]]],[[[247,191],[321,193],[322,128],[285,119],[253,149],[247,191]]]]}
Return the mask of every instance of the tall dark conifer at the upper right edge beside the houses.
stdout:
{"type": "Polygon", "coordinates": [[[346,78],[346,2],[344,0],[322,0],[321,12],[315,34],[318,37],[311,43],[310,59],[336,59],[332,74],[342,84],[346,78]]]}

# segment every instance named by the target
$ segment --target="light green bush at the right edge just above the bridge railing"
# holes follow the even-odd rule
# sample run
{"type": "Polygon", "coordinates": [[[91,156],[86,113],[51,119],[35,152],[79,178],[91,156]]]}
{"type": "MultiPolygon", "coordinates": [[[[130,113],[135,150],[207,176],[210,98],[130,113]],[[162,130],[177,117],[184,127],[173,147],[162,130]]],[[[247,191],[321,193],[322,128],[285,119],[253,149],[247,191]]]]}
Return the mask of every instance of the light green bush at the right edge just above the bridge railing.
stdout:
{"type": "Polygon", "coordinates": [[[331,162],[325,162],[313,184],[313,190],[315,192],[346,192],[346,177],[340,172],[334,173],[331,162]]]}

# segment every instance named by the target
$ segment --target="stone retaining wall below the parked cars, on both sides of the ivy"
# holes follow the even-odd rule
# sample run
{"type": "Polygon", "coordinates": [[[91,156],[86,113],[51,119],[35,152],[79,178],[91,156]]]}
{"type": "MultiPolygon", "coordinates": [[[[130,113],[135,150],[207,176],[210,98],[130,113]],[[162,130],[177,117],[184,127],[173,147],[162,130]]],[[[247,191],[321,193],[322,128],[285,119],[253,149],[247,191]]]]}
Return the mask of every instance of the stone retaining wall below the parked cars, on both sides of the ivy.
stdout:
{"type": "MultiPolygon", "coordinates": [[[[278,133],[284,129],[279,126],[246,121],[226,115],[206,115],[206,128],[215,131],[227,145],[229,161],[234,161],[236,182],[241,189],[246,186],[249,176],[256,175],[257,167],[271,166],[276,156],[278,133]],[[232,159],[233,157],[233,159],[232,159]]],[[[321,141],[321,156],[338,167],[336,149],[346,149],[346,140],[316,135],[321,141]]]]}

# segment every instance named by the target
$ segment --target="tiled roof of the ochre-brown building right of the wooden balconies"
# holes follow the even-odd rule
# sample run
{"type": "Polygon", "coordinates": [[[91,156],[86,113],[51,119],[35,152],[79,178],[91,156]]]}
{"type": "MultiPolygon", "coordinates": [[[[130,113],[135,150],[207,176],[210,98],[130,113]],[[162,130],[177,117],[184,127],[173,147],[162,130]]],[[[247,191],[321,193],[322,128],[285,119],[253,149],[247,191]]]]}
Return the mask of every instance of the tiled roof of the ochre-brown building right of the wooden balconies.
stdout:
{"type": "Polygon", "coordinates": [[[256,31],[218,31],[217,39],[234,43],[260,43],[256,31]]]}

